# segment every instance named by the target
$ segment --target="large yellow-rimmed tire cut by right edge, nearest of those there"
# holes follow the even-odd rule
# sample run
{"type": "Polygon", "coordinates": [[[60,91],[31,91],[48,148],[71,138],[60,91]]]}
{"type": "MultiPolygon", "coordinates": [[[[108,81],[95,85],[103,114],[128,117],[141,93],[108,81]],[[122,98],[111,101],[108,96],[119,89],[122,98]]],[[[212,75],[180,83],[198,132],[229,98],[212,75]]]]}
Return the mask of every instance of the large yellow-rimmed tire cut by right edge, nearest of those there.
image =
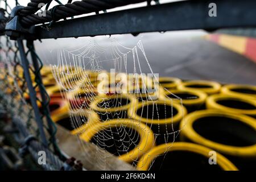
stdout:
{"type": "Polygon", "coordinates": [[[180,123],[181,139],[212,148],[221,154],[256,158],[256,120],[221,110],[200,110],[180,123]]]}

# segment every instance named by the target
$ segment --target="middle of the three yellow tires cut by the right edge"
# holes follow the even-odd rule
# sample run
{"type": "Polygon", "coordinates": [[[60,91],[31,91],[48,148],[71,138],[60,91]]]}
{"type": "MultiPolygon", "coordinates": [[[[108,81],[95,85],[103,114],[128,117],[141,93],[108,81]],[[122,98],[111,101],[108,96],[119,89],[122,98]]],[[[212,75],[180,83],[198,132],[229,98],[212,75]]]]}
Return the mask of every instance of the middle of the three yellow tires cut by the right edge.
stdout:
{"type": "Polygon", "coordinates": [[[247,97],[216,94],[207,98],[206,106],[207,109],[220,109],[256,117],[256,100],[247,97]]]}

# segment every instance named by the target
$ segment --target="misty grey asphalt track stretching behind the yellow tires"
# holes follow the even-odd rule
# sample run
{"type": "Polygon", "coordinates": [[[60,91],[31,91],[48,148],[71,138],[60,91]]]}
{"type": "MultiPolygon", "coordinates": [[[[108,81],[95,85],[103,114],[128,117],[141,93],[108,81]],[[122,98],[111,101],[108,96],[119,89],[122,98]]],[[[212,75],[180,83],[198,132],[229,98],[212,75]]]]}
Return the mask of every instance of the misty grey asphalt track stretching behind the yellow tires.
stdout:
{"type": "MultiPolygon", "coordinates": [[[[127,47],[133,47],[141,40],[144,51],[154,73],[159,76],[179,77],[183,80],[213,80],[222,83],[256,85],[256,63],[245,56],[218,46],[203,38],[203,31],[166,32],[164,34],[148,33],[137,37],[132,35],[117,35],[114,40],[127,47]]],[[[56,64],[56,49],[76,47],[96,40],[108,47],[112,38],[105,36],[95,38],[69,38],[43,40],[37,43],[36,49],[45,64],[56,64]]],[[[150,68],[139,54],[139,63],[143,73],[150,73],[150,68]]],[[[104,68],[110,71],[113,63],[106,61],[104,68]]],[[[137,65],[138,68],[138,65],[137,65]]],[[[133,73],[134,65],[128,60],[127,72],[133,73]]],[[[139,73],[140,70],[137,72],[139,73]]]]}

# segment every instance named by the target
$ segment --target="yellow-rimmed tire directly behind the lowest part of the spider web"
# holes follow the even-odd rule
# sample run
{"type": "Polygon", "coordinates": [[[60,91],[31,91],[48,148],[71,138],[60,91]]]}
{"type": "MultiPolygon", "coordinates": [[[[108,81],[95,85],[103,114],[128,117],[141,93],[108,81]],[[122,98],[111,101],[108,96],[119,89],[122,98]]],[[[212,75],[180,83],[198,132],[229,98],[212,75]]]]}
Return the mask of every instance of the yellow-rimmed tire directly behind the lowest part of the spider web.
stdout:
{"type": "MultiPolygon", "coordinates": [[[[122,152],[122,150],[118,151],[115,147],[106,147],[110,153],[117,155],[119,159],[124,160],[125,162],[133,162],[133,160],[138,160],[138,158],[144,155],[148,150],[150,150],[154,144],[154,133],[151,131],[150,127],[144,125],[143,123],[133,121],[132,119],[114,119],[112,121],[103,122],[98,125],[94,125],[86,130],[82,135],[81,139],[84,139],[86,142],[93,142],[96,145],[100,145],[100,140],[104,139],[100,137],[102,132],[108,132],[109,130],[126,130],[127,135],[133,135],[136,137],[127,136],[127,140],[129,142],[128,152],[122,152]],[[125,126],[125,127],[123,127],[125,126]],[[133,133],[133,134],[132,134],[133,133]],[[136,134],[134,134],[136,133],[136,134]],[[134,141],[133,141],[134,140],[134,141]],[[130,144],[132,143],[132,144],[130,144]],[[135,146],[133,145],[135,144],[135,146]],[[124,154],[122,154],[124,153],[124,154]]],[[[113,138],[105,139],[105,142],[110,142],[109,146],[112,146],[114,142],[119,142],[119,135],[114,135],[113,138]]],[[[126,138],[122,138],[125,140],[126,138]]],[[[115,143],[114,146],[118,146],[115,143]]]]}

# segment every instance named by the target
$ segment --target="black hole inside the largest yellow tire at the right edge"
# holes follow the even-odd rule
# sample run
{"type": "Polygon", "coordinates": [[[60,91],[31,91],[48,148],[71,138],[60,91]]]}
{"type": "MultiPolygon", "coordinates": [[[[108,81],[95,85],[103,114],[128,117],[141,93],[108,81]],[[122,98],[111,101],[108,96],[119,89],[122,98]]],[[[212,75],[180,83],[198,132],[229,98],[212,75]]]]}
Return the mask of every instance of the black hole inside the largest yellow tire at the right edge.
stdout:
{"type": "Polygon", "coordinates": [[[233,118],[199,118],[193,123],[193,129],[206,139],[229,146],[245,147],[256,143],[255,130],[233,118]]]}

